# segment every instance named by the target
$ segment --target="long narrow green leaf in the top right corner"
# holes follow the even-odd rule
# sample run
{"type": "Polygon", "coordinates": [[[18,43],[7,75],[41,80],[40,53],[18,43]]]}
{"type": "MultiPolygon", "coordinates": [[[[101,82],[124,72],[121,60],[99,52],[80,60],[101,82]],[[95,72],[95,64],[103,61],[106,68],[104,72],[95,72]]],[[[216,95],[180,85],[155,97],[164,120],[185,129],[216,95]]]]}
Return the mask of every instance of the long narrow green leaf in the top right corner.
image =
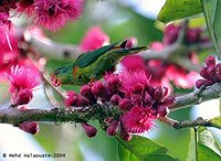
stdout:
{"type": "Polygon", "coordinates": [[[207,26],[214,47],[221,58],[221,1],[220,0],[201,0],[207,26]]]}

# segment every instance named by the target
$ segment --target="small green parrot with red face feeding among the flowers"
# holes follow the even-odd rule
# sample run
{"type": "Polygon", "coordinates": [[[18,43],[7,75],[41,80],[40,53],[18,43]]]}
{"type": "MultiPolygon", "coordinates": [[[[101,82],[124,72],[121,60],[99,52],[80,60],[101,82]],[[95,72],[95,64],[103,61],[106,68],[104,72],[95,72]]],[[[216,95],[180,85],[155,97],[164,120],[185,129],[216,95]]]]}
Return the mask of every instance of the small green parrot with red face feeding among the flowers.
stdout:
{"type": "Polygon", "coordinates": [[[130,47],[128,44],[127,40],[125,40],[81,54],[75,62],[52,73],[53,85],[69,84],[81,86],[91,80],[99,79],[105,72],[112,71],[123,56],[147,50],[147,46],[130,47]]]}

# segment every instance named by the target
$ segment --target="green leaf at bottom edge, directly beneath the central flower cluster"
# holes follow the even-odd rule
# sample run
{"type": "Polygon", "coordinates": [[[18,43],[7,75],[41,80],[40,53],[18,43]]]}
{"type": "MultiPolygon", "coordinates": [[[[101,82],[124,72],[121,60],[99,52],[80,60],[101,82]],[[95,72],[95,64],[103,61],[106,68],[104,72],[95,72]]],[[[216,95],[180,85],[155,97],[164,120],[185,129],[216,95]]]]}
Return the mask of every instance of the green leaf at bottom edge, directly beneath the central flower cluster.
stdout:
{"type": "Polygon", "coordinates": [[[176,161],[166,148],[147,138],[134,136],[130,141],[117,140],[120,161],[176,161]]]}

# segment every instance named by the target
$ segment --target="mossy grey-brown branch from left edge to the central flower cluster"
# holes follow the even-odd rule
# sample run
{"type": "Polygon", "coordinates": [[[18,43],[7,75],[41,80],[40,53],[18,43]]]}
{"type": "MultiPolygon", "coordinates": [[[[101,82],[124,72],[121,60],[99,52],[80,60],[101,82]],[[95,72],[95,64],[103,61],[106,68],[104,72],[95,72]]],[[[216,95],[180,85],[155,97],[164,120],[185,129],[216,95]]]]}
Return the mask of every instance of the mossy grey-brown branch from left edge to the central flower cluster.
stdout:
{"type": "Polygon", "coordinates": [[[25,109],[13,107],[0,109],[0,122],[18,126],[23,121],[50,121],[50,122],[87,122],[88,120],[104,120],[109,116],[119,117],[120,111],[115,107],[95,104],[90,107],[52,108],[52,109],[25,109]]]}

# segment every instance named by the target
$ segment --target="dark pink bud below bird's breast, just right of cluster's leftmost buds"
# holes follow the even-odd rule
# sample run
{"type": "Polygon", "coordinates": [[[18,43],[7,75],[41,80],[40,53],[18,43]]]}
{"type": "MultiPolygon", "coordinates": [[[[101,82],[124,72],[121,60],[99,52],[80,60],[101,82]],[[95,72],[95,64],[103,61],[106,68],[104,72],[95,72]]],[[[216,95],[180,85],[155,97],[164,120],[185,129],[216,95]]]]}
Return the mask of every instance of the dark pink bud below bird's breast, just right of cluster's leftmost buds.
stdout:
{"type": "Polygon", "coordinates": [[[92,93],[92,86],[90,85],[83,85],[80,89],[80,94],[87,98],[92,103],[96,103],[96,98],[94,97],[94,94],[92,93]]]}

